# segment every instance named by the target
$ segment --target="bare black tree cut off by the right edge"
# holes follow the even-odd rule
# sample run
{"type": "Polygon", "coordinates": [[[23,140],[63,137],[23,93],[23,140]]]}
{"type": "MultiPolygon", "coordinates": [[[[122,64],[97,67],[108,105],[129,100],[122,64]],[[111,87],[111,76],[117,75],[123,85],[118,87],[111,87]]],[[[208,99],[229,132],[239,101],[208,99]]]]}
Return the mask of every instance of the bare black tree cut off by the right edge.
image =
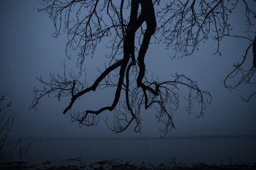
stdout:
{"type": "MultiPolygon", "coordinates": [[[[235,7],[237,6],[237,3],[239,1],[236,2],[236,5],[234,5],[235,7]]],[[[236,64],[233,64],[234,69],[232,69],[232,71],[230,71],[230,73],[228,73],[228,75],[226,76],[224,82],[225,87],[228,90],[232,90],[232,89],[236,89],[237,87],[239,87],[242,84],[248,84],[248,85],[255,85],[256,84],[256,29],[255,29],[255,18],[256,18],[256,11],[253,9],[253,5],[255,5],[255,0],[253,1],[246,1],[243,0],[243,6],[245,8],[245,23],[247,25],[247,30],[244,31],[244,33],[246,33],[246,36],[241,36],[241,35],[232,35],[229,32],[227,34],[224,34],[224,36],[230,36],[233,38],[240,38],[240,39],[246,39],[249,41],[249,44],[244,52],[243,55],[243,59],[241,62],[237,62],[236,64]],[[254,37],[254,38],[253,38],[254,37]],[[250,66],[245,69],[244,65],[246,62],[246,59],[248,59],[248,52],[249,50],[252,49],[253,51],[253,62],[252,64],[250,64],[250,66]],[[234,80],[235,79],[235,83],[228,83],[229,80],[234,80]]],[[[230,11],[231,13],[231,11],[230,11]]],[[[249,59],[251,58],[251,56],[249,56],[249,59]]],[[[256,95],[256,92],[253,92],[249,97],[244,98],[243,96],[241,96],[241,98],[248,102],[250,101],[250,99],[256,95]]]]}

